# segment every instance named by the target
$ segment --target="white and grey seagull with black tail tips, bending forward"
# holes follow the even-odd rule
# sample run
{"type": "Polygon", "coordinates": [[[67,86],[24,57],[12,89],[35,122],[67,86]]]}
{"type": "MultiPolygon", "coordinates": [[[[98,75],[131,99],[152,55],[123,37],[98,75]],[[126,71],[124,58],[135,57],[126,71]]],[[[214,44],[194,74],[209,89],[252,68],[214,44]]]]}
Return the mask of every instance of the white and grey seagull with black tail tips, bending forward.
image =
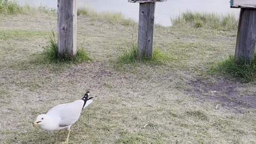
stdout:
{"type": "MultiPolygon", "coordinates": [[[[81,111],[92,103],[90,92],[87,91],[81,100],[71,103],[64,103],[51,108],[46,114],[38,115],[33,126],[39,125],[42,129],[51,132],[58,132],[61,129],[68,129],[68,137],[70,127],[81,115],[81,111]]],[[[68,143],[68,138],[66,140],[68,143]]]]}

